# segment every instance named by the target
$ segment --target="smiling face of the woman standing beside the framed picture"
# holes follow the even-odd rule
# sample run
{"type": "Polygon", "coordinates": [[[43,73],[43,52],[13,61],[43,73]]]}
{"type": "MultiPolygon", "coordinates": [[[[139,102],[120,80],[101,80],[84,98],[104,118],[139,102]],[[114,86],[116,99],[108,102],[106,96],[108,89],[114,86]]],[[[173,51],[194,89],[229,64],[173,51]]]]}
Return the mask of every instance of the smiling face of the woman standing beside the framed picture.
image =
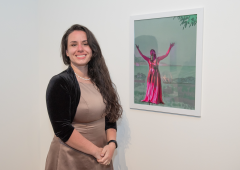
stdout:
{"type": "Polygon", "coordinates": [[[88,64],[92,58],[92,50],[84,31],[73,31],[69,34],[66,54],[70,58],[71,64],[76,66],[88,64]]]}

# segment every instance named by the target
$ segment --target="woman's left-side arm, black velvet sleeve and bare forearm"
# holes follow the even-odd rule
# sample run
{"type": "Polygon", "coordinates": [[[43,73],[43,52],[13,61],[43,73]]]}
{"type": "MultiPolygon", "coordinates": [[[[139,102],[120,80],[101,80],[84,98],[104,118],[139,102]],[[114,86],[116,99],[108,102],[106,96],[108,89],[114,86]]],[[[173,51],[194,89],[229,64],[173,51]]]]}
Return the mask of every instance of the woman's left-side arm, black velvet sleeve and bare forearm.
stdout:
{"type": "Polygon", "coordinates": [[[88,141],[71,124],[71,96],[66,82],[60,76],[54,76],[50,80],[46,101],[55,135],[72,148],[100,159],[102,148],[88,141]]]}

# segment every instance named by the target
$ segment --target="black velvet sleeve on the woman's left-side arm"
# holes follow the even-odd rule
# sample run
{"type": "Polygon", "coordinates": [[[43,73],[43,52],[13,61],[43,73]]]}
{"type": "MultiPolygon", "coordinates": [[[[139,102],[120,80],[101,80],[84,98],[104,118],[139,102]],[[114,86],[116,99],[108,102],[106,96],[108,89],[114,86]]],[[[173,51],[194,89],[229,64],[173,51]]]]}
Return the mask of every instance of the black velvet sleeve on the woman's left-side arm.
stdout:
{"type": "Polygon", "coordinates": [[[71,124],[71,96],[66,82],[59,75],[54,76],[48,84],[46,102],[53,131],[66,142],[74,130],[71,124]]]}

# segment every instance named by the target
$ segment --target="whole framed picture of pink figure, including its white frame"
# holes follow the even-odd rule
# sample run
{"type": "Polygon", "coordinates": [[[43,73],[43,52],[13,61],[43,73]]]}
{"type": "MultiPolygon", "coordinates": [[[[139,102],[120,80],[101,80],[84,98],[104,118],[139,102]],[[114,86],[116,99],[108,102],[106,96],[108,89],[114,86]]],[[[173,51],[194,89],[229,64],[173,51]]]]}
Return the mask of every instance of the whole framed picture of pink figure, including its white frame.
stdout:
{"type": "Polygon", "coordinates": [[[130,108],[201,116],[203,8],[131,16],[130,108]]]}

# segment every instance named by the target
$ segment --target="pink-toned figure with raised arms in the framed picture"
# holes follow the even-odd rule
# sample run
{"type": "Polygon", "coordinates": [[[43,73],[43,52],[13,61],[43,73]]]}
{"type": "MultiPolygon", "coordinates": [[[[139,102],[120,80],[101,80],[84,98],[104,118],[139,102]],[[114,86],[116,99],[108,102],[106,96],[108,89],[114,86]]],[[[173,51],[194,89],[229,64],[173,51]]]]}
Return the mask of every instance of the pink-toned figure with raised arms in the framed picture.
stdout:
{"type": "Polygon", "coordinates": [[[161,76],[160,72],[158,70],[159,62],[166,58],[171,51],[172,47],[174,46],[175,43],[171,43],[170,47],[167,51],[167,53],[163,56],[156,57],[155,50],[150,51],[151,57],[148,58],[145,55],[142,54],[142,52],[139,49],[139,46],[136,45],[139,54],[148,62],[149,65],[149,71],[148,71],[148,76],[147,76],[147,89],[146,89],[146,96],[142,100],[142,102],[148,102],[154,103],[154,104],[159,104],[162,103],[164,104],[162,100],[162,85],[161,85],[161,76]]]}

